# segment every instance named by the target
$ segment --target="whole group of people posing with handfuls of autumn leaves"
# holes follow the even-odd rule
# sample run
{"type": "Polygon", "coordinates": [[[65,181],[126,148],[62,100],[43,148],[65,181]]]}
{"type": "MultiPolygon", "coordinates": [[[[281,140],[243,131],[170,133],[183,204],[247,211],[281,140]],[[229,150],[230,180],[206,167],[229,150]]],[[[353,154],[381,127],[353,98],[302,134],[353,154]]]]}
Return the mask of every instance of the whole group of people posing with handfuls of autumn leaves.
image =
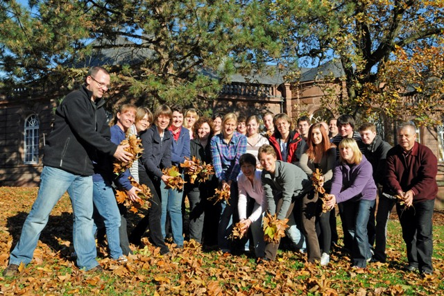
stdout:
{"type": "Polygon", "coordinates": [[[343,250],[355,268],[365,268],[369,261],[386,261],[386,225],[396,204],[407,268],[432,272],[437,161],[429,148],[415,141],[416,130],[410,123],[398,127],[398,145],[393,148],[377,136],[372,123],[355,132],[355,120],[348,114],[328,124],[311,124],[302,116],[293,128],[284,113],[210,118],[198,116],[194,109],[184,112],[160,105],[152,114],[146,107],[126,104],[110,127],[103,109],[109,83],[109,73],[93,67],[85,85],[57,108],[44,148],[40,190],[3,275],[17,275],[21,263],[31,262],[51,209],[65,191],[74,212],[76,263],[85,270],[102,270],[96,261],[96,233],[98,239],[100,233],[106,234],[110,257],[122,263],[132,252],[130,243],[139,245],[147,229],[161,254],[168,254],[170,247],[183,247],[186,237],[217,245],[222,252],[251,249],[258,262],[273,261],[279,243],[264,241],[266,211],[279,220],[289,219],[287,236],[296,249],[307,252],[309,262],[327,265],[331,247],[338,242],[336,204],[343,250]],[[144,150],[133,167],[116,176],[114,159],[130,160],[124,150],[128,145],[119,145],[130,134],[142,140],[144,150]],[[171,176],[162,168],[180,168],[186,159],[212,164],[214,175],[192,184],[181,168],[187,181],[184,190],[168,189],[171,176]],[[325,193],[314,186],[314,172],[321,172],[325,193]],[[128,198],[137,200],[139,189],[128,177],[148,186],[153,195],[146,216],[129,235],[126,209],[117,204],[113,188],[124,189],[128,198]],[[230,198],[214,204],[208,199],[215,189],[230,191],[230,198]],[[231,236],[237,222],[244,234],[241,240],[231,236]],[[167,245],[170,232],[173,244],[167,245]]]}

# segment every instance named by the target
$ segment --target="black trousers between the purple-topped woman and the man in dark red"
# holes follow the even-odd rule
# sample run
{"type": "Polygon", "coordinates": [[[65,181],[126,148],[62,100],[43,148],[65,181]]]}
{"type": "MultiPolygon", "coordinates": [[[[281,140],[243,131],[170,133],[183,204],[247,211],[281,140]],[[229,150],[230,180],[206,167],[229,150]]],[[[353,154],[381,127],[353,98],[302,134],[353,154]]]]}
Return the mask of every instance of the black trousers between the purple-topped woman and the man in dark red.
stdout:
{"type": "Polygon", "coordinates": [[[391,209],[395,205],[396,200],[386,198],[384,195],[379,195],[376,212],[376,233],[375,233],[375,254],[374,258],[378,261],[385,262],[386,243],[387,243],[387,221],[390,216],[391,209]]]}

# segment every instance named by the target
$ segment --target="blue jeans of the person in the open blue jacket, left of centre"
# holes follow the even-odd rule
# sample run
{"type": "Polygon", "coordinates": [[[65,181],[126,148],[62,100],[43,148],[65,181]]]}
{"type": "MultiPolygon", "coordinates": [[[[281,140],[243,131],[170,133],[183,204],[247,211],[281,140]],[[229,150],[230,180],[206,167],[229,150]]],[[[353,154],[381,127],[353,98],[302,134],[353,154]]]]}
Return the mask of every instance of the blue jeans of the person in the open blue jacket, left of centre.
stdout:
{"type": "Polygon", "coordinates": [[[167,211],[171,219],[171,230],[173,232],[173,241],[178,247],[183,246],[183,225],[182,225],[182,197],[183,191],[179,192],[173,189],[165,189],[162,184],[162,216],[160,225],[162,227],[162,236],[167,236],[165,223],[167,222],[167,211]]]}

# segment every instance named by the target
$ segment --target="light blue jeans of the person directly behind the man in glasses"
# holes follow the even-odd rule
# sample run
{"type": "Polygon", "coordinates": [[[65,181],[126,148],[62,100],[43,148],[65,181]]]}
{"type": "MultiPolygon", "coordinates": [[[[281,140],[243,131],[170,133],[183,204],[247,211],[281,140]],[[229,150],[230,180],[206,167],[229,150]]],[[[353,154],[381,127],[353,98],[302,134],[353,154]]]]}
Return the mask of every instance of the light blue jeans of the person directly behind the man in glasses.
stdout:
{"type": "Polygon", "coordinates": [[[105,224],[110,256],[112,259],[119,259],[119,257],[122,256],[119,236],[121,217],[114,191],[112,191],[112,187],[106,184],[104,180],[94,181],[93,183],[92,201],[105,224]]]}

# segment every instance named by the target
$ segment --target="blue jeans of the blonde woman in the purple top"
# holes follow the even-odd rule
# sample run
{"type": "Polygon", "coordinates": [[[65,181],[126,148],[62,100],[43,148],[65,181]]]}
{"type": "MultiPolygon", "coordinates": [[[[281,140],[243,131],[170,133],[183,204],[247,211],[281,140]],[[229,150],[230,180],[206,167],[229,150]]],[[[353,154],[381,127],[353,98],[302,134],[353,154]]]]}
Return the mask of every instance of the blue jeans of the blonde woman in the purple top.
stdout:
{"type": "MultiPolygon", "coordinates": [[[[352,263],[359,268],[366,268],[367,259],[370,259],[370,245],[368,244],[367,224],[375,200],[357,200],[343,202],[343,222],[346,231],[352,238],[352,263]]],[[[345,234],[344,234],[345,236],[345,234]]]]}

